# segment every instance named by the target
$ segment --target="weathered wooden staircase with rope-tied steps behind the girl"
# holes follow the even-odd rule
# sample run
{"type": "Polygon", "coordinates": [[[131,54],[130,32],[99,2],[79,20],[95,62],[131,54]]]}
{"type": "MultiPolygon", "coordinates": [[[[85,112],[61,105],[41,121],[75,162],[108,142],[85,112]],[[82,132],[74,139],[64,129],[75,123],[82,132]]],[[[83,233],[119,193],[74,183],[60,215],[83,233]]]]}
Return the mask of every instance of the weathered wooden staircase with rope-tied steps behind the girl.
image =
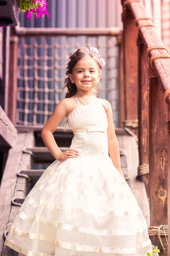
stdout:
{"type": "MultiPolygon", "coordinates": [[[[9,150],[0,187],[0,198],[2,198],[0,208],[3,219],[0,227],[0,252],[2,256],[17,255],[11,248],[3,245],[4,235],[7,235],[17,211],[29,191],[45,171],[45,169],[34,167],[42,166],[42,164],[49,166],[55,160],[48,149],[43,146],[40,132],[41,128],[36,131],[20,131],[17,134],[16,146],[9,150]]],[[[136,179],[139,165],[136,135],[125,129],[117,128],[116,136],[119,141],[122,171],[149,226],[150,213],[145,185],[136,179]]],[[[65,151],[71,144],[73,133],[65,133],[62,129],[57,129],[54,132],[54,138],[61,151],[65,151]]]]}

